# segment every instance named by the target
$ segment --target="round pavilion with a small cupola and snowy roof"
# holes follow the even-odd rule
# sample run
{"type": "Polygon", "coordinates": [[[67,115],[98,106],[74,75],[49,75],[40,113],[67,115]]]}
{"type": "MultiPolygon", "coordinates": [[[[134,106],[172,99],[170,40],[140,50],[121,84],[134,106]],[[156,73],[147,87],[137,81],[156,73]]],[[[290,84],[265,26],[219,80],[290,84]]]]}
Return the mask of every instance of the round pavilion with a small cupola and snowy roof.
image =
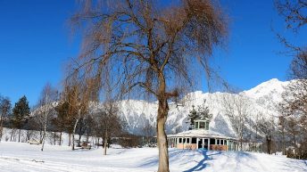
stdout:
{"type": "Polygon", "coordinates": [[[178,149],[205,149],[214,151],[237,151],[237,139],[211,131],[209,128],[212,115],[205,108],[205,112],[196,115],[194,110],[189,115],[191,119],[190,130],[176,135],[167,135],[169,148],[178,149]],[[192,117],[192,118],[191,118],[192,117]]]}

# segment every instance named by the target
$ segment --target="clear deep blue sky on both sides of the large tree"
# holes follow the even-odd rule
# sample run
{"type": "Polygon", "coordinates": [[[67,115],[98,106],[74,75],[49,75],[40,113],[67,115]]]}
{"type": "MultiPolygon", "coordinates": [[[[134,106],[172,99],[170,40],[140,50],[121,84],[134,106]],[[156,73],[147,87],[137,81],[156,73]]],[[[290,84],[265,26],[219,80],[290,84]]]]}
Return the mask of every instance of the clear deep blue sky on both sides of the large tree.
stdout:
{"type": "MultiPolygon", "coordinates": [[[[270,78],[286,80],[291,57],[271,28],[288,35],[270,0],[221,0],[229,16],[225,50],[215,53],[220,74],[249,89],[270,78]]],[[[37,102],[42,87],[61,86],[64,64],[79,53],[68,19],[74,0],[0,0],[0,94],[16,102],[23,94],[37,102]]]]}

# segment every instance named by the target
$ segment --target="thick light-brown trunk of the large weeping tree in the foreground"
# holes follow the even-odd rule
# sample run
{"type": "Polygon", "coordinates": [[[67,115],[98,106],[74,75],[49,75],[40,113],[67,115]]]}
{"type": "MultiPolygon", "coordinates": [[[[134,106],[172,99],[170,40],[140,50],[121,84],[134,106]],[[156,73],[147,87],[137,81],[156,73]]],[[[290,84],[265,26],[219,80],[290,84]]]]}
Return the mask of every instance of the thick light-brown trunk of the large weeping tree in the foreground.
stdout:
{"type": "Polygon", "coordinates": [[[167,100],[159,101],[157,118],[157,142],[159,148],[159,168],[158,172],[169,172],[169,152],[167,136],[165,134],[165,122],[169,111],[167,100]]]}

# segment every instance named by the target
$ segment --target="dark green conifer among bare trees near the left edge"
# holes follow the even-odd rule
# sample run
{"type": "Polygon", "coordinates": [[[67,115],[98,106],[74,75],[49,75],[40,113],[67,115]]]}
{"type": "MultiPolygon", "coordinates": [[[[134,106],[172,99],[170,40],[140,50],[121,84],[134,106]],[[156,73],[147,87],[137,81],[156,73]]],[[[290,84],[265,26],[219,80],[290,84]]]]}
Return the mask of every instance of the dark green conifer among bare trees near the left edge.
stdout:
{"type": "Polygon", "coordinates": [[[12,114],[12,125],[19,129],[18,142],[21,142],[21,127],[23,127],[29,119],[29,102],[25,95],[15,103],[15,106],[12,109],[12,114]]]}

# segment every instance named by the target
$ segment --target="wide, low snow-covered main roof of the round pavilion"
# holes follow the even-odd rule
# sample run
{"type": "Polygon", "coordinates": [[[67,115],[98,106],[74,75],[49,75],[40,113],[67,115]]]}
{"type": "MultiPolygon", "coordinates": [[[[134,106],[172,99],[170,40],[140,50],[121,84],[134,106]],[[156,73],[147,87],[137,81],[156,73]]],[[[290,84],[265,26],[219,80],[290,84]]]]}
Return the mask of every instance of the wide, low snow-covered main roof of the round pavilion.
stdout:
{"type": "Polygon", "coordinates": [[[214,132],[212,130],[205,130],[205,129],[188,130],[188,131],[178,133],[176,135],[168,135],[168,137],[206,137],[206,138],[220,138],[220,139],[237,140],[234,137],[222,135],[218,132],[214,132]]]}

